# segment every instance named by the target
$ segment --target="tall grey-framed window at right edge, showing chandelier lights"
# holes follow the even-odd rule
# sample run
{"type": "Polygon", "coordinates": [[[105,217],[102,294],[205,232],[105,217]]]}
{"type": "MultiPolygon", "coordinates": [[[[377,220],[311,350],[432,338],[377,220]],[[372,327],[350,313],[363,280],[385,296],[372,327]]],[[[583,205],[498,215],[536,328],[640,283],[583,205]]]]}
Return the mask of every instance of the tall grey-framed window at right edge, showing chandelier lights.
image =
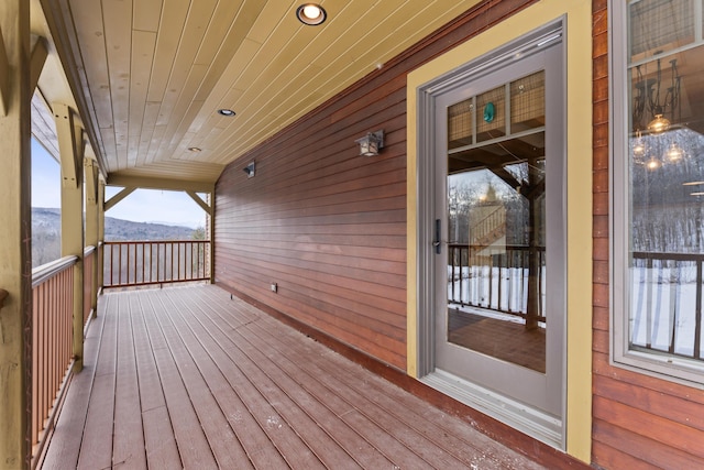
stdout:
{"type": "Polygon", "coordinates": [[[703,1],[612,2],[613,360],[698,383],[703,1]]]}

